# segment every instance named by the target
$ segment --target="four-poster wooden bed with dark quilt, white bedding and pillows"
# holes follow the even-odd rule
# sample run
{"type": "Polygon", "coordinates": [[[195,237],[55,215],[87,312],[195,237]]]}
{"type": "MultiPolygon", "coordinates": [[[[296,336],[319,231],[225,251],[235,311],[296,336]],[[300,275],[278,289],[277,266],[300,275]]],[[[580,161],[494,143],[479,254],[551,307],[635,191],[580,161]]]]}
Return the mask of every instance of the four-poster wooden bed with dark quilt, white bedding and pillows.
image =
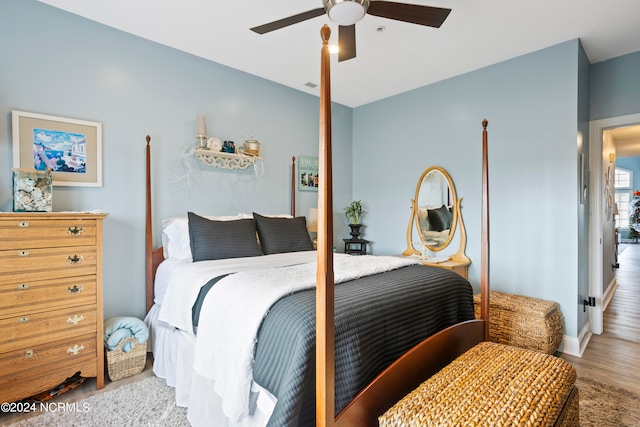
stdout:
{"type": "MultiPolygon", "coordinates": [[[[196,248],[194,240],[200,239],[192,229],[195,227],[195,222],[192,224],[192,221],[196,220],[202,227],[209,227],[214,223],[216,227],[222,227],[223,221],[233,224],[255,221],[260,244],[265,248],[268,235],[261,234],[260,228],[260,223],[265,221],[265,218],[256,213],[253,216],[239,215],[237,218],[211,221],[189,213],[188,227],[192,252],[189,256],[193,256],[193,260],[189,258],[186,261],[176,261],[171,257],[165,257],[167,245],[164,241],[164,230],[163,248],[153,250],[150,138],[147,137],[146,250],[149,313],[146,321],[151,330],[154,372],[166,378],[169,385],[176,387],[177,403],[189,406],[189,420],[194,425],[377,425],[379,415],[425,378],[440,371],[457,356],[488,338],[488,322],[483,320],[487,319],[489,311],[486,120],[483,122],[482,319],[474,319],[471,286],[456,273],[422,266],[418,262],[400,257],[350,257],[333,252],[329,35],[329,28],[324,26],[321,30],[323,46],[318,243],[317,251],[312,253],[315,263],[301,264],[302,259],[308,258],[308,253],[303,249],[295,254],[299,258],[293,263],[288,260],[282,261],[280,256],[288,257],[288,254],[268,254],[266,251],[259,257],[243,254],[241,258],[231,260],[236,262],[233,271],[228,266],[221,267],[222,270],[216,270],[219,268],[217,264],[213,267],[219,261],[226,262],[225,259],[204,257],[203,262],[196,259],[196,254],[193,253],[196,248]],[[247,401],[251,402],[248,403],[248,409],[244,406],[246,402],[242,402],[242,407],[236,410],[233,405],[229,406],[227,396],[219,388],[222,387],[220,384],[224,383],[223,378],[208,376],[211,371],[207,369],[209,365],[215,364],[215,358],[207,357],[209,353],[199,351],[203,347],[211,347],[212,344],[205,344],[212,340],[210,334],[222,333],[223,341],[225,331],[218,330],[220,328],[216,322],[204,322],[203,319],[216,318],[215,313],[225,308],[224,303],[217,300],[221,297],[220,292],[225,285],[236,280],[238,283],[234,286],[241,287],[244,282],[239,277],[246,281],[248,277],[268,276],[269,274],[264,273],[267,271],[265,265],[260,263],[276,258],[284,269],[290,268],[291,271],[312,265],[315,269],[315,280],[311,279],[310,286],[302,286],[297,292],[289,291],[286,297],[274,299],[273,305],[267,307],[255,341],[248,351],[250,359],[255,357],[249,378],[251,394],[250,398],[247,398],[247,401]],[[257,259],[258,264],[253,264],[257,259]],[[365,273],[358,271],[355,275],[345,274],[347,264],[376,264],[377,261],[374,259],[380,259],[381,263],[385,263],[384,267],[380,266],[376,271],[367,270],[365,273]],[[196,264],[206,265],[210,270],[207,272],[209,276],[206,280],[198,276],[197,281],[200,281],[200,284],[196,286],[198,290],[194,294],[197,294],[197,301],[192,303],[186,299],[190,304],[187,320],[194,321],[194,330],[191,331],[190,324],[180,323],[179,319],[171,317],[171,310],[176,309],[167,307],[175,304],[174,300],[184,299],[182,294],[194,292],[181,287],[189,285],[189,289],[193,288],[192,283],[185,282],[184,277],[187,276],[184,276],[183,271],[189,270],[191,276],[188,277],[195,278],[196,264]],[[177,272],[177,267],[180,267],[180,272],[177,272]],[[205,282],[206,285],[201,287],[205,282]],[[344,284],[334,286],[337,283],[344,284]],[[179,290],[172,285],[180,286],[179,290]],[[206,293],[202,294],[204,288],[210,292],[207,298],[204,298],[206,293]],[[211,296],[213,294],[215,298],[211,296]],[[412,304],[416,301],[418,303],[412,304]],[[196,304],[199,304],[197,309],[196,304]],[[200,316],[199,319],[196,312],[200,316]],[[293,314],[289,315],[289,312],[293,314]],[[367,315],[369,317],[366,317],[367,315]],[[278,320],[279,318],[285,320],[278,320]],[[295,328],[287,329],[291,327],[295,328]],[[273,338],[274,336],[277,338],[273,338]],[[305,341],[305,344],[295,347],[297,341],[305,341]],[[284,352],[282,348],[285,349],[284,352]],[[315,356],[312,354],[314,348],[315,356]],[[285,352],[289,354],[283,355],[285,352]],[[290,354],[298,353],[303,353],[298,357],[300,360],[289,361],[294,358],[289,357],[290,354]],[[314,371],[315,381],[312,381],[308,377],[312,378],[314,371]],[[360,390],[362,392],[353,399],[360,390]],[[340,413],[334,418],[336,411],[340,413]],[[215,418],[218,416],[222,418],[215,418]],[[220,424],[217,421],[219,419],[220,424]]],[[[292,160],[290,217],[295,215],[295,159],[292,160]]],[[[288,220],[281,218],[269,221],[277,222],[280,226],[288,220]]],[[[180,221],[186,230],[187,221],[177,219],[175,223],[180,221]]],[[[230,225],[224,225],[228,226],[230,225]]],[[[365,269],[363,266],[358,268],[365,269]]],[[[290,270],[286,271],[288,274],[290,270]]],[[[250,299],[250,295],[251,293],[248,293],[245,297],[250,299]]],[[[186,315],[184,310],[179,314],[182,317],[186,315]]],[[[232,317],[233,313],[228,314],[232,317]]],[[[226,314],[217,319],[219,322],[228,320],[226,314]]],[[[242,318],[236,323],[242,323],[242,318]]],[[[242,357],[245,356],[242,354],[243,351],[240,352],[242,357]]],[[[223,370],[224,368],[223,366],[223,370]]],[[[236,369],[231,368],[229,366],[229,370],[236,369]]]]}

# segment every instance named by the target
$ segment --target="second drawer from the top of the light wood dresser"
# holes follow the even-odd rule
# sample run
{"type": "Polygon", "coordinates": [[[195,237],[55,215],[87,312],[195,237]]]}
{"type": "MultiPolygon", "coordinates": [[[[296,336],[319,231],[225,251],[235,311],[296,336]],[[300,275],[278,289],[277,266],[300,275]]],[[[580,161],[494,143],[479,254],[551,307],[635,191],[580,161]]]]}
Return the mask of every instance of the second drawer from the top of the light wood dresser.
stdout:
{"type": "Polygon", "coordinates": [[[0,251],[0,284],[96,274],[95,246],[0,251]]]}

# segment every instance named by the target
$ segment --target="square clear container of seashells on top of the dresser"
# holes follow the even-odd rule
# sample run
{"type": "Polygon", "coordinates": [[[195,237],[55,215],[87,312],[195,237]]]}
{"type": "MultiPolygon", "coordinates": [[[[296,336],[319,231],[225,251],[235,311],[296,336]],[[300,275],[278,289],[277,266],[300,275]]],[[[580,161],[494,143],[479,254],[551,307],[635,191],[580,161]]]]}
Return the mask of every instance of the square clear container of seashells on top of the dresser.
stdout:
{"type": "Polygon", "coordinates": [[[39,171],[29,168],[13,170],[14,212],[51,212],[51,169],[39,171]]]}

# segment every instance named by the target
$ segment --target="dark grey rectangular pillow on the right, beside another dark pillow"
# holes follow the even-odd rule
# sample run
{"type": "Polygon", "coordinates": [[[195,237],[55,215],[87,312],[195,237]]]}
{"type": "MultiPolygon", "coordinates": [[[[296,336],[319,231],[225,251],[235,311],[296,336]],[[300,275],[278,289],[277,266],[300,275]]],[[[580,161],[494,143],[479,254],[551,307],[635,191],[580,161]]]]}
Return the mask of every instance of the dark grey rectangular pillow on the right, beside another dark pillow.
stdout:
{"type": "Polygon", "coordinates": [[[267,217],[254,212],[253,218],[265,255],[313,250],[305,217],[267,217]]]}

